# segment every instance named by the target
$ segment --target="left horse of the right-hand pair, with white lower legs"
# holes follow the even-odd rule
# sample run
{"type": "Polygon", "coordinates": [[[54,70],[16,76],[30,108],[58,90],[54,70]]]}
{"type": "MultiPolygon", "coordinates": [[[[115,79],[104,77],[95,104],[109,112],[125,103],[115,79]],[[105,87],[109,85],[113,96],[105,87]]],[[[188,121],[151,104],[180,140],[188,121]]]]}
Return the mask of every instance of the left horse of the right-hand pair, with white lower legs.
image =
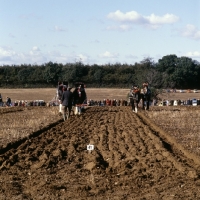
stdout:
{"type": "Polygon", "coordinates": [[[132,89],[129,93],[129,99],[130,99],[132,111],[137,113],[138,103],[140,101],[140,89],[139,89],[138,85],[132,86],[132,89]]]}

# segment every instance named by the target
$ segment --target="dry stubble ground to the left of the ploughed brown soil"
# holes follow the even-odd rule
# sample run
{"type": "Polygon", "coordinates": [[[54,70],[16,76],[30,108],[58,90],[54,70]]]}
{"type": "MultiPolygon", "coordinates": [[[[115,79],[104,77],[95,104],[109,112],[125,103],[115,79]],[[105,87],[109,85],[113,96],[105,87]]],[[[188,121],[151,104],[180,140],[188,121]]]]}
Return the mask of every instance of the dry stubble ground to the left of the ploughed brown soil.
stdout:
{"type": "Polygon", "coordinates": [[[10,107],[0,109],[0,149],[61,120],[57,107],[10,107]]]}

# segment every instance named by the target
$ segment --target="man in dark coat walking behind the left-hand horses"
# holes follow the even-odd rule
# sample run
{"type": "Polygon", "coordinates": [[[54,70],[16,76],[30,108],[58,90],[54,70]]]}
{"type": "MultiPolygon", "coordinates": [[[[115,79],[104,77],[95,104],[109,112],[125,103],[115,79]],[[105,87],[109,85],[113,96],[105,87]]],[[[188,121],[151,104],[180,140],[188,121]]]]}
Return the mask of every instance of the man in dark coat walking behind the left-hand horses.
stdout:
{"type": "Polygon", "coordinates": [[[64,121],[70,117],[72,110],[73,93],[71,92],[71,87],[64,86],[64,91],[62,94],[62,113],[64,121]]]}

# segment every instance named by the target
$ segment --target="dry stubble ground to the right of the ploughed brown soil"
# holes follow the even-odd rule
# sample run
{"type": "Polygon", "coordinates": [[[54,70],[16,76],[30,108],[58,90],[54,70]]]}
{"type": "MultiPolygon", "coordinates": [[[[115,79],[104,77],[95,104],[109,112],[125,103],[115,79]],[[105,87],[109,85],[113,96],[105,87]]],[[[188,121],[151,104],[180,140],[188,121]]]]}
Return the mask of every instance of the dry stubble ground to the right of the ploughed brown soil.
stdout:
{"type": "Polygon", "coordinates": [[[200,106],[155,106],[145,115],[177,143],[200,157],[200,106]]]}

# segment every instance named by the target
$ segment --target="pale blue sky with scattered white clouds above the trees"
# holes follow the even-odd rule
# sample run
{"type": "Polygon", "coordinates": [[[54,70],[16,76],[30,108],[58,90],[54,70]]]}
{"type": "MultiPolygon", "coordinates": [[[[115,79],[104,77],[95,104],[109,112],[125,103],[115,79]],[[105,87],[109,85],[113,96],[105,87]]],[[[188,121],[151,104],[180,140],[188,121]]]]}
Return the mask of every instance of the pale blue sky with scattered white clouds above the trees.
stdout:
{"type": "Polygon", "coordinates": [[[200,0],[0,0],[0,65],[200,62],[200,0]]]}

